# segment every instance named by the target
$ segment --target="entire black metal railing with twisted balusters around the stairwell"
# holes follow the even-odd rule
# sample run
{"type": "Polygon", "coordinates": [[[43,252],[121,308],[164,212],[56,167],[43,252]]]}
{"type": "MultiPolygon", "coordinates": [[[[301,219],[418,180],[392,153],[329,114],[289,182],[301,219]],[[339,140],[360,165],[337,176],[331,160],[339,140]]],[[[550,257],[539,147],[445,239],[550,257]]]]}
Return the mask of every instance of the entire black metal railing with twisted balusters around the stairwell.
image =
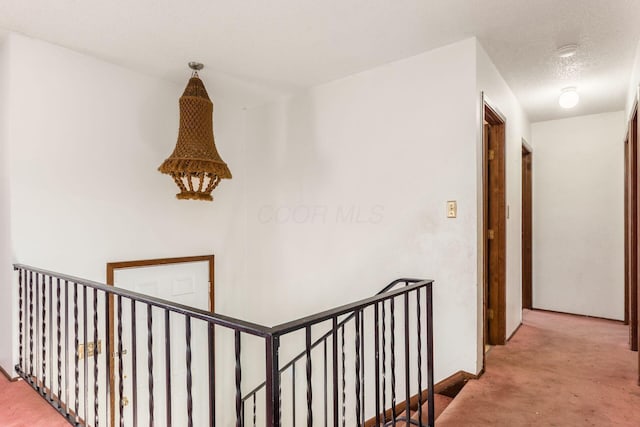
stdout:
{"type": "Polygon", "coordinates": [[[434,425],[432,281],[265,327],[14,268],[16,372],[72,425],[434,425]]]}

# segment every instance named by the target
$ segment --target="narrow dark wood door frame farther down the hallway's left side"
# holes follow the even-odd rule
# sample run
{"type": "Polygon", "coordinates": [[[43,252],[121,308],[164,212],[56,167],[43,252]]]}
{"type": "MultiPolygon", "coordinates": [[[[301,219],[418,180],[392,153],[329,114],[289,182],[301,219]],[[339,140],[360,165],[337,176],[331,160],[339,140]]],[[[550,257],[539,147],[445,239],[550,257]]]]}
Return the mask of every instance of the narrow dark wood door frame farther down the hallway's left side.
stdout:
{"type": "Polygon", "coordinates": [[[533,150],[522,140],[522,308],[533,308],[533,150]]]}

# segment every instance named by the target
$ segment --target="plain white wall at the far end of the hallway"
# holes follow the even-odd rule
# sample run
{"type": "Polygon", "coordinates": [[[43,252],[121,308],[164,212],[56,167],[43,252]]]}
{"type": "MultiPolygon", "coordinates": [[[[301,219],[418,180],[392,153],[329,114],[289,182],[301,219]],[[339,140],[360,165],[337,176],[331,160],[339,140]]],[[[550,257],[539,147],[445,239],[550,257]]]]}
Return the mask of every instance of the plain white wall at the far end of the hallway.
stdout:
{"type": "Polygon", "coordinates": [[[624,318],[625,113],[532,125],[533,306],[624,318]]]}

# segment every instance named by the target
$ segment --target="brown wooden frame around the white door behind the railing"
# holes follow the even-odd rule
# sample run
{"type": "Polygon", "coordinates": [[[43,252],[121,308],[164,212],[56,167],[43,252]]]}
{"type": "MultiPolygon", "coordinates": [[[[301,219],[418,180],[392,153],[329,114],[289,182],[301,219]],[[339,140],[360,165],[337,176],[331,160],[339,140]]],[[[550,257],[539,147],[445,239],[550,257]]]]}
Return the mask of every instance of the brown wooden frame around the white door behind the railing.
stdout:
{"type": "MultiPolygon", "coordinates": [[[[120,261],[120,262],[109,262],[107,263],[107,285],[114,286],[114,274],[115,270],[125,269],[125,268],[136,268],[136,267],[156,267],[159,265],[167,265],[167,264],[181,264],[181,263],[190,263],[190,262],[208,262],[209,264],[209,310],[213,313],[215,312],[215,292],[214,292],[214,278],[215,278],[215,258],[213,255],[200,255],[200,256],[190,256],[190,257],[179,257],[179,258],[158,258],[158,259],[145,259],[145,260],[136,260],[136,261],[120,261]]],[[[115,336],[114,336],[114,298],[113,295],[109,296],[109,348],[114,349],[115,345],[115,336]]],[[[212,343],[210,343],[211,345],[212,343]]],[[[107,355],[106,357],[111,357],[110,364],[110,372],[109,372],[109,390],[111,390],[111,396],[109,397],[109,405],[110,405],[110,413],[111,427],[115,427],[115,352],[111,355],[107,355]]]]}

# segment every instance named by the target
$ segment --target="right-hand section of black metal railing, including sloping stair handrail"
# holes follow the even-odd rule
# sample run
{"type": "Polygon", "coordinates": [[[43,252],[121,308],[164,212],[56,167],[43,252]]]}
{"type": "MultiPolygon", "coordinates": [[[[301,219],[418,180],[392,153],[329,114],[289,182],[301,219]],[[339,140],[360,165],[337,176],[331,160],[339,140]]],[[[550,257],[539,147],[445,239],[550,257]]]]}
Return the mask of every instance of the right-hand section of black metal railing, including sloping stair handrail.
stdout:
{"type": "MultiPolygon", "coordinates": [[[[364,425],[366,417],[365,412],[365,372],[371,373],[374,380],[375,390],[375,402],[374,402],[374,417],[375,425],[383,425],[386,423],[394,424],[400,421],[408,421],[415,425],[433,425],[434,408],[433,408],[433,324],[432,324],[432,294],[431,294],[432,281],[422,281],[420,279],[397,279],[383,288],[376,294],[375,297],[367,300],[362,300],[354,304],[349,304],[344,307],[329,310],[327,312],[319,313],[317,315],[309,316],[298,321],[290,322],[274,328],[274,336],[278,337],[278,342],[282,341],[284,335],[295,332],[296,330],[305,331],[305,349],[293,357],[288,363],[284,364],[278,370],[278,379],[281,380],[283,376],[289,377],[290,383],[288,384],[288,394],[290,394],[291,404],[289,406],[291,413],[287,419],[286,425],[295,426],[298,420],[300,411],[297,411],[298,404],[298,390],[296,385],[298,383],[296,375],[296,366],[303,364],[306,377],[306,392],[307,392],[307,425],[312,425],[313,422],[313,405],[309,402],[309,394],[314,396],[313,388],[314,383],[309,377],[310,365],[314,362],[312,352],[314,349],[320,347],[320,350],[316,350],[316,359],[322,365],[322,390],[321,390],[321,419],[322,425],[351,425],[355,422],[356,425],[364,425]],[[425,291],[424,308],[422,308],[421,293],[425,291]],[[413,304],[413,312],[409,307],[410,297],[415,298],[413,304]],[[403,329],[402,336],[404,341],[403,360],[396,360],[396,333],[395,333],[395,318],[396,318],[396,299],[401,298],[403,301],[401,307],[401,318],[404,323],[400,325],[403,329]],[[365,339],[365,313],[367,310],[373,311],[373,330],[374,337],[373,348],[375,352],[374,356],[374,368],[373,371],[365,371],[365,344],[369,344],[365,339]],[[422,311],[424,310],[424,311],[422,311]],[[412,314],[415,316],[412,317],[412,314]],[[340,319],[340,317],[343,317],[340,319]],[[409,319],[414,320],[413,323],[409,319]],[[424,320],[423,320],[424,319],[424,320]],[[424,324],[422,323],[424,321],[424,324]],[[330,325],[325,327],[324,332],[320,338],[314,340],[310,344],[307,339],[311,334],[312,328],[318,326],[323,322],[330,322],[330,325]],[[387,327],[387,325],[389,327],[387,327]],[[423,326],[424,325],[424,326],[423,326]],[[347,366],[345,363],[345,329],[353,326],[354,339],[355,339],[355,358],[353,366],[347,366]],[[424,329],[422,329],[424,327],[424,329]],[[424,335],[424,336],[423,336],[424,335]],[[411,345],[411,337],[415,339],[415,357],[416,364],[413,371],[411,368],[411,362],[409,360],[411,345]],[[423,341],[424,339],[424,341],[423,341]],[[423,345],[424,344],[424,345],[423,345]],[[328,354],[331,353],[331,354],[328,354]],[[387,358],[388,355],[388,358],[387,358]],[[426,356],[426,372],[423,369],[423,359],[426,356]],[[398,411],[399,405],[397,402],[401,400],[398,396],[402,394],[398,391],[398,382],[396,381],[396,371],[398,365],[402,365],[404,369],[404,404],[401,405],[402,413],[398,411]],[[354,372],[350,372],[354,371],[354,372]],[[371,371],[371,372],[370,372],[371,371]],[[390,374],[389,377],[387,377],[390,374]],[[352,378],[355,391],[355,401],[349,402],[346,394],[346,378],[349,376],[352,378]],[[427,377],[426,384],[423,384],[422,379],[427,377]],[[388,380],[388,382],[387,382],[388,380]],[[415,382],[412,384],[412,380],[415,382]],[[424,393],[422,386],[425,386],[427,392],[424,393]],[[413,395],[413,402],[411,401],[411,390],[415,391],[413,395]],[[329,399],[332,397],[333,399],[329,399]],[[389,397],[389,399],[387,399],[389,397]],[[332,402],[329,402],[332,400],[332,402]],[[352,403],[355,411],[355,417],[350,419],[347,417],[347,402],[352,403]],[[428,416],[423,417],[422,406],[423,403],[429,402],[428,416]],[[332,407],[330,408],[329,403],[332,407]],[[416,413],[419,420],[427,419],[426,422],[411,420],[410,408],[416,407],[416,413]],[[388,410],[387,410],[388,409],[388,410]],[[349,422],[347,422],[349,421],[349,422]]],[[[348,332],[347,332],[348,334],[348,332]]],[[[348,340],[347,340],[348,341],[348,340]]],[[[353,341],[353,340],[352,340],[353,341]]],[[[274,374],[275,375],[275,374],[274,374]]],[[[277,405],[282,405],[282,393],[283,386],[278,384],[279,390],[277,391],[279,401],[275,402],[277,405]]],[[[318,384],[315,384],[318,387],[318,384]]],[[[253,426],[256,426],[256,395],[261,393],[267,387],[266,382],[259,384],[257,387],[247,393],[241,401],[243,414],[246,407],[252,406],[253,426]]],[[[282,421],[281,410],[277,414],[282,421]]],[[[304,416],[304,414],[303,414],[304,416]]],[[[304,421],[304,420],[303,420],[304,421]]],[[[371,420],[370,420],[371,421],[371,420]]]]}

